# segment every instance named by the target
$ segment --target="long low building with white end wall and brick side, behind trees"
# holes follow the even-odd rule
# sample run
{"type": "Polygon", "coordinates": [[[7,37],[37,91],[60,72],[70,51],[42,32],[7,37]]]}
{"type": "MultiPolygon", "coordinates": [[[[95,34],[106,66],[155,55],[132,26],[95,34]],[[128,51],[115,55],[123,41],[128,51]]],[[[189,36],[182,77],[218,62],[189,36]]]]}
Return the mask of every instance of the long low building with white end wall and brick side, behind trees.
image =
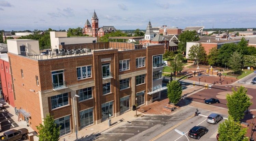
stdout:
{"type": "Polygon", "coordinates": [[[241,41],[241,39],[208,39],[208,40],[199,40],[199,41],[194,41],[194,42],[187,42],[187,47],[186,47],[186,58],[188,58],[189,54],[189,49],[193,45],[197,45],[199,43],[202,44],[204,47],[206,54],[209,53],[210,49],[212,48],[217,48],[220,49],[225,43],[235,43],[238,44],[241,41]]]}

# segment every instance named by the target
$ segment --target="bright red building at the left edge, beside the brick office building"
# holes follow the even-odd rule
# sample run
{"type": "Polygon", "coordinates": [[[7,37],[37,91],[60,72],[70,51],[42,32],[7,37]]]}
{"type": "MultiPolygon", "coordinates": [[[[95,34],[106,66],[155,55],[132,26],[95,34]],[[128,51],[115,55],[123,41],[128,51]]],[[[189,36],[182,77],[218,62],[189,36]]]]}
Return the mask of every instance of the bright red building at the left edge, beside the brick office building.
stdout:
{"type": "Polygon", "coordinates": [[[9,64],[8,55],[0,54],[0,76],[1,76],[1,88],[3,99],[6,103],[14,105],[14,95],[13,95],[13,87],[12,87],[12,78],[11,78],[11,69],[9,64]]]}

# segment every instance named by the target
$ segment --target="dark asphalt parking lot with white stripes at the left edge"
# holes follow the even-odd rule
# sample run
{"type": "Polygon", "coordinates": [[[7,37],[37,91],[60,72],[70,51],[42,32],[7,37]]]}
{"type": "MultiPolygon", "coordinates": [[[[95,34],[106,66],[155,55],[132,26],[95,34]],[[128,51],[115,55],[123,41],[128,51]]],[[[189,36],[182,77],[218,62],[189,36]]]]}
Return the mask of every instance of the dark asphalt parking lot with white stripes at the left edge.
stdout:
{"type": "Polygon", "coordinates": [[[1,128],[2,130],[0,131],[1,132],[4,132],[6,130],[9,130],[9,129],[12,129],[12,128],[15,128],[15,127],[18,127],[18,124],[16,124],[10,116],[8,116],[8,110],[6,109],[2,109],[0,110],[0,124],[1,124],[1,128]]]}

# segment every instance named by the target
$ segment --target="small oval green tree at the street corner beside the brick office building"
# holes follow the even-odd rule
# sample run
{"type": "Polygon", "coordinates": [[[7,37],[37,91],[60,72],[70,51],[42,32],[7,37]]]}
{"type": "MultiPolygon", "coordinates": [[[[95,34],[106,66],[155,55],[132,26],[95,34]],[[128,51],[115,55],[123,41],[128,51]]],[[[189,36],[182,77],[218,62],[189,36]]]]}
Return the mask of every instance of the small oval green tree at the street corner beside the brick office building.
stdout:
{"type": "Polygon", "coordinates": [[[173,80],[167,84],[167,97],[171,103],[176,105],[180,101],[181,95],[182,87],[178,81],[173,80]]]}

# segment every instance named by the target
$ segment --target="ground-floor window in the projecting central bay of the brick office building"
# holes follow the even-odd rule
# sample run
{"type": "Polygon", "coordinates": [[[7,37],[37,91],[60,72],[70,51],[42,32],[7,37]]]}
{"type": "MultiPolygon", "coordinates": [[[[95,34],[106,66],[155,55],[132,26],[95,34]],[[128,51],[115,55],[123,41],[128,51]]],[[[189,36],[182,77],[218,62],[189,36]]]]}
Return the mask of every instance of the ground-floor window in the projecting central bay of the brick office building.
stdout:
{"type": "Polygon", "coordinates": [[[113,116],[113,101],[101,104],[101,117],[102,121],[113,116]]]}

